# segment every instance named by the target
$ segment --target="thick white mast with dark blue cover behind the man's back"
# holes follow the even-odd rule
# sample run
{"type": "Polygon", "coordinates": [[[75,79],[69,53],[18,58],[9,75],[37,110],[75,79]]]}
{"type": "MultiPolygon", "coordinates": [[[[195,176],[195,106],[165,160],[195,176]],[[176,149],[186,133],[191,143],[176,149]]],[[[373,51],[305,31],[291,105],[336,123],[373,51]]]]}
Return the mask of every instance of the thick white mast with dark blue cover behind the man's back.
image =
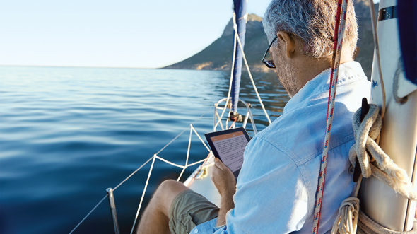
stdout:
{"type": "MultiPolygon", "coordinates": [[[[404,13],[404,8],[415,12],[413,9],[417,8],[417,4],[414,1],[380,1],[377,23],[379,46],[375,49],[375,55],[379,51],[382,78],[378,71],[377,56],[374,55],[370,103],[383,107],[386,100],[380,147],[399,168],[405,170],[416,189],[417,20],[413,13],[404,13]],[[405,25],[402,23],[404,20],[405,25]],[[381,81],[384,83],[384,92],[381,81]]],[[[413,228],[416,201],[397,194],[376,177],[363,179],[359,197],[360,210],[381,226],[399,232],[413,228]]]]}

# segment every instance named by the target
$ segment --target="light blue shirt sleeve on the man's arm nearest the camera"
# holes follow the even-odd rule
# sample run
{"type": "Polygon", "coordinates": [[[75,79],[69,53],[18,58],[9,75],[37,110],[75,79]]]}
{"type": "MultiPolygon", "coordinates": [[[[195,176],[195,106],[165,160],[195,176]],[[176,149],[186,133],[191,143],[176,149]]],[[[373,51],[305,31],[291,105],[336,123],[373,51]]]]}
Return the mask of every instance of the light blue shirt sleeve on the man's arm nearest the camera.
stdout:
{"type": "Polygon", "coordinates": [[[284,152],[259,137],[249,142],[233,197],[235,209],[216,234],[290,233],[303,227],[308,189],[298,166],[284,152]]]}

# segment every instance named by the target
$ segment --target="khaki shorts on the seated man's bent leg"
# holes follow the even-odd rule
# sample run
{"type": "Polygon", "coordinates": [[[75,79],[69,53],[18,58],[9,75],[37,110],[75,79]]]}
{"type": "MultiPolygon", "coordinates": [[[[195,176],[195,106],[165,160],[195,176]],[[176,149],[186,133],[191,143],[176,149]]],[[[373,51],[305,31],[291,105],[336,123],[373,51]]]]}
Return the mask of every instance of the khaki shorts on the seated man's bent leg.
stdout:
{"type": "Polygon", "coordinates": [[[175,234],[191,232],[195,226],[218,216],[218,207],[191,189],[175,197],[170,206],[170,231],[175,234]]]}

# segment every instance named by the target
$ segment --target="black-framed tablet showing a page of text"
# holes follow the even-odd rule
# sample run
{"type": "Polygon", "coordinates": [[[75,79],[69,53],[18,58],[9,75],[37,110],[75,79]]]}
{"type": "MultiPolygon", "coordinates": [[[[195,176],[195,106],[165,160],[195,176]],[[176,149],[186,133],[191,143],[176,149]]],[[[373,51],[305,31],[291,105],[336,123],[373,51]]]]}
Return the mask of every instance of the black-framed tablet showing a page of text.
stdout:
{"type": "Polygon", "coordinates": [[[243,163],[243,152],[250,141],[249,135],[243,127],[204,134],[209,142],[211,151],[235,175],[239,175],[243,163]]]}

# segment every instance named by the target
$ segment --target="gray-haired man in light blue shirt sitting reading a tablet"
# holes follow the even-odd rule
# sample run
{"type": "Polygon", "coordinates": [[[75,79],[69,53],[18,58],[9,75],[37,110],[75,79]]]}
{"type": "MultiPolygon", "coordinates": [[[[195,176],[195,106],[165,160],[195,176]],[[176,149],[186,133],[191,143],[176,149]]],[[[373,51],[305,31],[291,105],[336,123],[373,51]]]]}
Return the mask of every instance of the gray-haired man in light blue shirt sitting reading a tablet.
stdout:
{"type": "MultiPolygon", "coordinates": [[[[360,64],[353,62],[358,26],[349,2],[319,233],[331,229],[341,201],[353,190],[351,119],[370,90],[360,64]]],[[[237,190],[232,172],[216,161],[213,182],[221,194],[220,209],[168,180],[153,195],[138,233],[311,233],[336,7],[336,0],[269,4],[263,24],[273,61],[263,62],[276,70],[291,97],[283,115],[247,145],[237,190]]]]}

